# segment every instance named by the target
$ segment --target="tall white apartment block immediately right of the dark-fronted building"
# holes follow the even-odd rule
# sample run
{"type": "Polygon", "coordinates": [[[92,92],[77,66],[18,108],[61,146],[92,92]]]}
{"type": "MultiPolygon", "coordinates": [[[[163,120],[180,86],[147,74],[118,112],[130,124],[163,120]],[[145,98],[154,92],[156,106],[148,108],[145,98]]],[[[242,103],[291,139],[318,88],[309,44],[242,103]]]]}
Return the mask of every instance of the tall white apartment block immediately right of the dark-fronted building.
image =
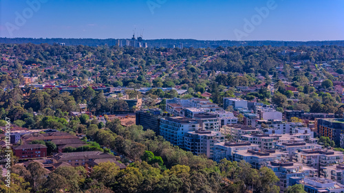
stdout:
{"type": "Polygon", "coordinates": [[[200,130],[200,122],[186,117],[165,117],[160,120],[160,135],[174,146],[184,147],[184,135],[200,130]]]}

